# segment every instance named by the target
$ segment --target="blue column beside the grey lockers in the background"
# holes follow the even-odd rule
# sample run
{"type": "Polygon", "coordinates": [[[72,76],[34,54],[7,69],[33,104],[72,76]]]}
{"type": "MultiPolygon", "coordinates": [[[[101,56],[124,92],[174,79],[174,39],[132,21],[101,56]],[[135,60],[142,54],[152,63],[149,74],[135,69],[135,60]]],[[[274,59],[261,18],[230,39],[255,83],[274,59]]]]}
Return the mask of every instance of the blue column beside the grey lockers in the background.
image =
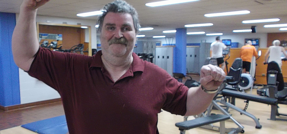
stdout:
{"type": "Polygon", "coordinates": [[[173,51],[173,72],[186,75],[186,28],[177,28],[173,51]]]}

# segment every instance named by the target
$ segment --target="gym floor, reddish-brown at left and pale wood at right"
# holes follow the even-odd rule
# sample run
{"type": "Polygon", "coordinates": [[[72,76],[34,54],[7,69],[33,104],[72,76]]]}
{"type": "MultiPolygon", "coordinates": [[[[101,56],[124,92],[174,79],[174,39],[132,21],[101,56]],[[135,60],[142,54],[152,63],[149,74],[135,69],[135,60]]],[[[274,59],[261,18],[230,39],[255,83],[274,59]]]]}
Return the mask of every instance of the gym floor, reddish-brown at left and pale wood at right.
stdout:
{"type": "MultiPolygon", "coordinates": [[[[253,94],[256,89],[253,89],[253,94]]],[[[243,109],[245,107],[244,100],[236,99],[236,106],[243,109]]],[[[287,114],[287,105],[279,105],[279,112],[287,114]]],[[[263,103],[250,102],[247,112],[260,118],[259,122],[262,125],[261,129],[255,128],[255,122],[245,115],[240,115],[235,110],[229,110],[232,117],[235,118],[242,126],[245,127],[245,134],[287,134],[286,121],[271,121],[270,118],[271,106],[263,103]]],[[[213,110],[213,113],[220,113],[213,110]]],[[[22,124],[35,122],[51,117],[64,115],[62,103],[51,103],[30,108],[22,108],[12,111],[0,111],[0,134],[36,134],[32,131],[19,127],[22,124]],[[9,128],[9,129],[8,129],[9,128]]],[[[287,117],[282,117],[287,119],[287,117]]],[[[188,120],[193,117],[188,117],[188,120]]],[[[158,129],[160,134],[179,134],[179,130],[175,127],[176,122],[182,122],[183,117],[173,115],[163,111],[158,114],[158,129]]],[[[218,124],[215,124],[219,126],[218,124]]],[[[226,121],[226,128],[237,127],[231,120],[226,121]]],[[[211,131],[203,128],[194,128],[186,132],[186,134],[219,134],[219,132],[211,131]]]]}

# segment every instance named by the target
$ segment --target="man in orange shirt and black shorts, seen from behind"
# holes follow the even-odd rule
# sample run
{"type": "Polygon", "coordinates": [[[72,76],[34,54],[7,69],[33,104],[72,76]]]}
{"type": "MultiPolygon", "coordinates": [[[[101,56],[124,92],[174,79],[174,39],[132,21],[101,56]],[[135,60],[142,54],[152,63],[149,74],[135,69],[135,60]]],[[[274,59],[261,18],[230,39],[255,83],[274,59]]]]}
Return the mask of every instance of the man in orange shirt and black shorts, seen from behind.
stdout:
{"type": "Polygon", "coordinates": [[[244,46],[241,47],[240,57],[243,61],[242,73],[249,74],[250,65],[253,56],[258,56],[256,48],[252,45],[251,41],[247,41],[244,46]]]}

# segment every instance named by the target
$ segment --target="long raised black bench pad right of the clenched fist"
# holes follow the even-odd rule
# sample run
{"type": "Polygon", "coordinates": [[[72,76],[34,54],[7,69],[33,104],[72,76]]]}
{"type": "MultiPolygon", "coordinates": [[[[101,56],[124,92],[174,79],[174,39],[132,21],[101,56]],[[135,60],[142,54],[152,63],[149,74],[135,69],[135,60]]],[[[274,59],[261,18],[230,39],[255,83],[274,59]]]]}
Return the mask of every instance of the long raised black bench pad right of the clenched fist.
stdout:
{"type": "Polygon", "coordinates": [[[246,99],[249,101],[255,101],[255,102],[265,103],[265,104],[270,104],[270,105],[276,105],[278,101],[275,98],[268,98],[264,96],[254,95],[250,93],[242,93],[239,91],[233,91],[233,90],[228,90],[228,89],[223,89],[221,91],[221,94],[224,96],[241,98],[241,99],[246,99]]]}

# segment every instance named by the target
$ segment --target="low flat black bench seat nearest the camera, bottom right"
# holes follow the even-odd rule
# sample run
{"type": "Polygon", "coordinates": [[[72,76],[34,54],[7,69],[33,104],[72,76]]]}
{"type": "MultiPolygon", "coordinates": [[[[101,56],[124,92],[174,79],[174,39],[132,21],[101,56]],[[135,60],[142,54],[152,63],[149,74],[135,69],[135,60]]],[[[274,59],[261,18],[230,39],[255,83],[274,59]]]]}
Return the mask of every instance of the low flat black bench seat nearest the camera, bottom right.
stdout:
{"type": "Polygon", "coordinates": [[[180,134],[185,134],[186,130],[196,128],[196,127],[201,127],[204,125],[220,122],[220,134],[225,134],[225,120],[230,119],[228,115],[222,115],[222,114],[215,114],[215,115],[210,115],[207,117],[200,117],[196,118],[194,120],[188,120],[184,122],[178,122],[175,124],[175,126],[179,127],[180,134]]]}

